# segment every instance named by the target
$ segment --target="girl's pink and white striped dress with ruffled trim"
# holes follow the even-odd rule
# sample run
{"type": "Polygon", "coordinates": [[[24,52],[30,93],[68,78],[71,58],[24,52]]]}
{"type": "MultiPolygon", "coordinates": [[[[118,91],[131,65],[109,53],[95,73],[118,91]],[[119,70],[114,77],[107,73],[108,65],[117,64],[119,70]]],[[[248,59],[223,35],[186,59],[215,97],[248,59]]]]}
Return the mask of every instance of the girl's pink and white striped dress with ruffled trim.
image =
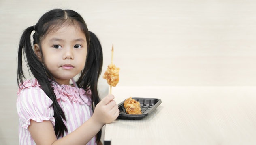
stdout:
{"type": "MultiPolygon", "coordinates": [[[[52,101],[41,89],[36,79],[26,80],[23,84],[25,87],[20,85],[21,89],[17,93],[19,144],[36,145],[28,131],[30,120],[36,122],[49,120],[55,126],[53,107],[50,107],[52,101]]],[[[57,101],[66,116],[66,121],[64,121],[68,129],[68,132],[64,134],[66,136],[92,116],[91,92],[70,85],[53,85],[53,87],[57,101]]],[[[96,145],[95,141],[96,137],[92,138],[87,145],[96,145]]]]}

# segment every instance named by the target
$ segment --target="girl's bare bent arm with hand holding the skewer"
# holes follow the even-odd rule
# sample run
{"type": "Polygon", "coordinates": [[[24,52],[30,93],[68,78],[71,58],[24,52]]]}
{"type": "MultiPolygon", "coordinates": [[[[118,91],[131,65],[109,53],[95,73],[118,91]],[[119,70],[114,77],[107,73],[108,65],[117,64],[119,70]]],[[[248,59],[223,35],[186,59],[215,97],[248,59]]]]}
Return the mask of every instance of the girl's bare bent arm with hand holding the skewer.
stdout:
{"type": "Polygon", "coordinates": [[[31,120],[28,130],[37,145],[84,145],[100,131],[105,123],[111,123],[117,118],[119,109],[113,99],[113,95],[103,98],[96,105],[94,114],[89,120],[59,140],[55,136],[50,121],[38,123],[31,120]]]}

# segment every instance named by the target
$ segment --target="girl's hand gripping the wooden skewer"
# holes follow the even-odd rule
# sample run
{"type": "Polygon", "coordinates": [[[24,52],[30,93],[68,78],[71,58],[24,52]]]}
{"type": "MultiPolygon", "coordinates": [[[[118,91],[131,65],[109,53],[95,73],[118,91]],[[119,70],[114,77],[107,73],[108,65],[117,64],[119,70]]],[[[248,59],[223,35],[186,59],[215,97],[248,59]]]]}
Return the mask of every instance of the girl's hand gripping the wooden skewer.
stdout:
{"type": "Polygon", "coordinates": [[[119,115],[118,105],[116,104],[114,95],[104,97],[94,109],[92,119],[100,124],[113,122],[119,115]]]}

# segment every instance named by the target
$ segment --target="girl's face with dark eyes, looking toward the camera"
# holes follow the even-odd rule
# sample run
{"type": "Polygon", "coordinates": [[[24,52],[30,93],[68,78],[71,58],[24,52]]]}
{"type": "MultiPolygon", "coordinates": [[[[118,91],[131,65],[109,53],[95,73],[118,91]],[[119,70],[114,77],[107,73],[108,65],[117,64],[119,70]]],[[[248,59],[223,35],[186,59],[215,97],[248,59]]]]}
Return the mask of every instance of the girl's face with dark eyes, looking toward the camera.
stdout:
{"type": "MultiPolygon", "coordinates": [[[[44,65],[60,84],[69,85],[70,79],[80,73],[85,66],[86,37],[73,25],[64,26],[58,31],[47,34],[41,42],[41,47],[44,65]]],[[[37,44],[35,44],[35,53],[42,61],[37,44]]]]}

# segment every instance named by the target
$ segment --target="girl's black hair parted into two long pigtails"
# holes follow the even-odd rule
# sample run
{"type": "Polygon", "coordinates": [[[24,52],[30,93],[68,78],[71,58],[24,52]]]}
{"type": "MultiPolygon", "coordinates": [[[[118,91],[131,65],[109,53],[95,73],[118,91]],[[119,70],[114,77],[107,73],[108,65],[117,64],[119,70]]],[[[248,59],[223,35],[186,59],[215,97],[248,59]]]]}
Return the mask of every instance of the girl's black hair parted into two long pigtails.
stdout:
{"type": "MultiPolygon", "coordinates": [[[[100,102],[98,94],[98,77],[102,70],[103,56],[100,41],[96,35],[87,29],[87,25],[80,14],[73,10],[61,10],[53,9],[45,13],[36,23],[36,25],[28,27],[23,32],[18,50],[18,69],[17,69],[17,83],[23,85],[23,78],[25,75],[22,68],[22,55],[26,60],[26,64],[32,75],[37,79],[41,85],[42,90],[52,100],[51,107],[54,110],[55,118],[55,134],[56,137],[61,137],[64,132],[67,131],[63,120],[66,121],[65,114],[57,102],[56,95],[54,94],[51,82],[56,82],[51,73],[47,70],[42,62],[39,61],[38,57],[34,53],[34,49],[31,44],[30,35],[33,34],[33,44],[38,44],[41,50],[41,41],[45,36],[51,32],[57,31],[64,25],[75,25],[80,27],[81,31],[85,33],[87,40],[87,56],[85,67],[81,71],[81,76],[77,81],[79,88],[83,88],[85,91],[92,91],[92,110],[94,111],[95,106],[100,102]],[[62,120],[63,119],[63,120],[62,120]]],[[[43,57],[42,50],[41,56],[43,57]]],[[[97,133],[97,142],[100,141],[101,130],[97,133]]]]}

